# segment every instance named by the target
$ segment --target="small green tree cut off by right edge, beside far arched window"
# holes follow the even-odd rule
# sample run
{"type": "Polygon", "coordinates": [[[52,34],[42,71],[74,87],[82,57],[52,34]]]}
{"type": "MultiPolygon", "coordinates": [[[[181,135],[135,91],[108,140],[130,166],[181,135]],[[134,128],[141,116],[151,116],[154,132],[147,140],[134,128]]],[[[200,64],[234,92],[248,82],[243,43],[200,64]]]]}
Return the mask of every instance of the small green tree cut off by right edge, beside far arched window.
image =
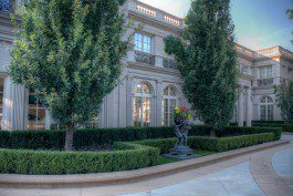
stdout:
{"type": "Polygon", "coordinates": [[[293,81],[282,82],[276,87],[276,99],[283,120],[293,123],[293,81]]]}

